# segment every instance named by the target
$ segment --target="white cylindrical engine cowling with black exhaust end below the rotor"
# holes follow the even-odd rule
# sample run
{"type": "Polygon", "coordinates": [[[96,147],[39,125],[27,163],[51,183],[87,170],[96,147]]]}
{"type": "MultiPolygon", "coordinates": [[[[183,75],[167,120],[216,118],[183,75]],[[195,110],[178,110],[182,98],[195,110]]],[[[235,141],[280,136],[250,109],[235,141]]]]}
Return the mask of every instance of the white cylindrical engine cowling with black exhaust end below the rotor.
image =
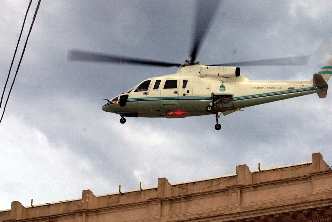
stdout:
{"type": "Polygon", "coordinates": [[[239,67],[229,66],[206,66],[201,67],[200,77],[218,76],[218,77],[238,77],[240,76],[239,67]]]}

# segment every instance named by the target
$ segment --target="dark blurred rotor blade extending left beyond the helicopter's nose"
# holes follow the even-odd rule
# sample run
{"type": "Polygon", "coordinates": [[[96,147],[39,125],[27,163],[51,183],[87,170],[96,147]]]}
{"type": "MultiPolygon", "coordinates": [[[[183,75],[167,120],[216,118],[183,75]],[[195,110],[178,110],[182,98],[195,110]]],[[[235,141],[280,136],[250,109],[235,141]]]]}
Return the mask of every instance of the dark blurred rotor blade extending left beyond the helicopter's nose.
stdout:
{"type": "Polygon", "coordinates": [[[181,65],[179,63],[85,52],[80,50],[69,50],[68,61],[107,62],[107,63],[120,63],[120,64],[155,65],[155,66],[166,66],[166,67],[170,66],[179,67],[181,65]]]}

